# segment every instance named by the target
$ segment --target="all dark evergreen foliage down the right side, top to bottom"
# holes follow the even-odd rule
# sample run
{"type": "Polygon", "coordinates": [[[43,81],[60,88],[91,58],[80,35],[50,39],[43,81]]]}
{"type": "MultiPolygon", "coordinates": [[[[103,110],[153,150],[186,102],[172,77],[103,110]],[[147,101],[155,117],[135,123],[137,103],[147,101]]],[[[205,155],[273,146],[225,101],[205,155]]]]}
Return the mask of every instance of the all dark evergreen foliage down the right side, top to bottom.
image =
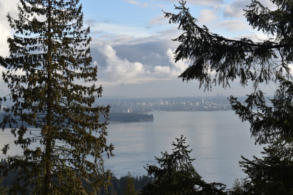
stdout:
{"type": "Polygon", "coordinates": [[[244,103],[234,96],[229,98],[236,114],[250,122],[255,144],[269,144],[262,159],[254,157],[250,161],[243,157],[241,161],[248,178],[240,188],[238,183],[237,189],[246,194],[292,194],[293,4],[288,0],[271,2],[275,5],[272,10],[256,0],[245,10],[252,28],[262,30],[267,39],[255,34],[229,39],[209,32],[206,26],[196,24],[184,1],[175,6],[178,14],[164,12],[169,22],[178,23],[178,29],[183,31],[173,39],[180,42],[176,62],[190,61],[179,76],[183,81],[198,80],[205,90],[211,90],[212,84],[230,87],[229,82],[234,80],[243,87],[252,83],[252,93],[244,103]],[[265,85],[274,92],[272,99],[265,98],[265,85]]]}

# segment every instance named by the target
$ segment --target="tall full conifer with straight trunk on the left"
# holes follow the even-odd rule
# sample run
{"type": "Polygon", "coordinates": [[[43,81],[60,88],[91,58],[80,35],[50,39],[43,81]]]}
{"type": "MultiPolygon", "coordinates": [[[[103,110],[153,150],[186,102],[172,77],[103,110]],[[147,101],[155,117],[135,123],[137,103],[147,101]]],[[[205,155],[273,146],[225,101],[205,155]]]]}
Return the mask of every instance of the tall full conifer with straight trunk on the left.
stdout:
{"type": "MultiPolygon", "coordinates": [[[[97,192],[109,184],[102,153],[109,106],[93,106],[101,96],[97,67],[91,65],[90,27],[83,28],[79,0],[21,0],[18,18],[7,15],[13,37],[10,55],[1,57],[3,80],[11,93],[2,130],[11,128],[23,154],[7,158],[18,169],[11,191],[25,194],[87,194],[83,182],[97,192]],[[37,145],[32,147],[31,144],[37,145]]],[[[2,149],[8,153],[9,144],[2,149]]]]}

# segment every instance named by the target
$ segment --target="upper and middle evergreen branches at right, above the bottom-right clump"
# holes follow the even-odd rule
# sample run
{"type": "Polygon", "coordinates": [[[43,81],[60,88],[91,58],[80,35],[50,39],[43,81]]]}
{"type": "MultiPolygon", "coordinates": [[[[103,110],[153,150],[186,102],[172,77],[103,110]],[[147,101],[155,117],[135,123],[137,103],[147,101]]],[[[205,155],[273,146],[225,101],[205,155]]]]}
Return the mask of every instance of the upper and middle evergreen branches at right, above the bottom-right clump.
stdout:
{"type": "MultiPolygon", "coordinates": [[[[183,81],[196,79],[200,87],[210,90],[212,84],[229,87],[235,79],[245,87],[253,83],[252,93],[245,104],[231,96],[233,109],[251,123],[252,135],[256,142],[269,143],[274,135],[292,137],[292,76],[289,65],[293,62],[293,4],[288,0],[271,0],[274,10],[252,0],[246,11],[247,21],[252,28],[262,30],[274,38],[253,39],[247,37],[229,39],[209,32],[206,26],[199,27],[190,15],[189,8],[181,1],[178,14],[165,13],[170,23],[179,23],[183,33],[174,39],[180,42],[175,51],[175,60],[187,59],[191,65],[179,76],[183,81]],[[260,83],[276,86],[274,105],[267,106],[263,87],[260,83]],[[258,108],[257,111],[254,111],[258,108]]],[[[276,137],[276,136],[275,136],[276,137]]]]}

